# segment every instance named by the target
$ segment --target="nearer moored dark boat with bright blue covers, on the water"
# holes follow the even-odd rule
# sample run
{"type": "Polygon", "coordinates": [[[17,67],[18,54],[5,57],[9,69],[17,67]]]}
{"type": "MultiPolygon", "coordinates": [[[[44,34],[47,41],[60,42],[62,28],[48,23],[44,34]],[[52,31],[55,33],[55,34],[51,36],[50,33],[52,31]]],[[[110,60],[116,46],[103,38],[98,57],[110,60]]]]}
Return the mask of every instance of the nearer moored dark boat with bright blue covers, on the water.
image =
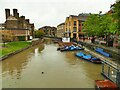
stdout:
{"type": "Polygon", "coordinates": [[[77,52],[75,55],[92,63],[100,64],[102,62],[99,58],[93,57],[92,55],[85,54],[83,52],[77,52]]]}

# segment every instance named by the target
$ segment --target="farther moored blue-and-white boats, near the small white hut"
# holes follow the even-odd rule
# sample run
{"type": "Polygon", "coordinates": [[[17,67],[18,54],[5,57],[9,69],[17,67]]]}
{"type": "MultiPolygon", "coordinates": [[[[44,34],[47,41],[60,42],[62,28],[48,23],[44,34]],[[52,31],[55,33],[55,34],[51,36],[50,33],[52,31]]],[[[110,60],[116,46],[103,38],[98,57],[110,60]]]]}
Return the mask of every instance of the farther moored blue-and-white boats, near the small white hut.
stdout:
{"type": "Polygon", "coordinates": [[[82,48],[80,46],[71,45],[71,46],[64,46],[58,50],[60,50],[60,51],[75,51],[75,50],[84,50],[84,48],[82,48]]]}

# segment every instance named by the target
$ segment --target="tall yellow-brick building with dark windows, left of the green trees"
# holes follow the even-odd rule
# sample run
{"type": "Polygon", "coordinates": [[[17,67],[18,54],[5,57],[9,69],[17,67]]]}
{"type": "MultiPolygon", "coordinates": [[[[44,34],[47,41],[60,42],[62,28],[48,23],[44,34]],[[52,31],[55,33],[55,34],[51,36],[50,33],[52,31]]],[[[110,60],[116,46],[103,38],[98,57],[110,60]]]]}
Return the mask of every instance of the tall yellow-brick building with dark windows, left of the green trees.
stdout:
{"type": "Polygon", "coordinates": [[[66,37],[78,40],[83,34],[82,32],[83,22],[87,19],[88,16],[89,14],[81,13],[78,16],[70,15],[69,17],[67,17],[65,20],[64,35],[66,37]]]}

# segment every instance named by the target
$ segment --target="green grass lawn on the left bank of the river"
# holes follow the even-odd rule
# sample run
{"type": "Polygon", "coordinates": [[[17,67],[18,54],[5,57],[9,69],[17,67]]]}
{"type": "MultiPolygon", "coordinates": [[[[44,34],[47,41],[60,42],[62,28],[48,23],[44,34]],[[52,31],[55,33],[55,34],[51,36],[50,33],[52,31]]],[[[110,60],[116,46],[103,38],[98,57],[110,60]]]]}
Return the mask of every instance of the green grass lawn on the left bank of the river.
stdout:
{"type": "Polygon", "coordinates": [[[9,42],[5,45],[5,47],[2,47],[2,49],[0,50],[2,52],[0,53],[0,57],[5,56],[14,51],[20,50],[22,48],[25,48],[29,46],[30,44],[31,42],[26,42],[26,41],[9,42]]]}

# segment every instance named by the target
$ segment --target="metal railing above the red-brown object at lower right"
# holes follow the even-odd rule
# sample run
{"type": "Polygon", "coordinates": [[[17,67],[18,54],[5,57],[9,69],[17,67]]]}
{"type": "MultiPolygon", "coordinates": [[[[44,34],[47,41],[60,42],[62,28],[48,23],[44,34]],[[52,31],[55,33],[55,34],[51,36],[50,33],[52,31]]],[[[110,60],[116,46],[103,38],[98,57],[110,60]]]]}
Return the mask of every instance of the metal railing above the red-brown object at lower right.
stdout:
{"type": "Polygon", "coordinates": [[[120,87],[120,66],[105,60],[102,62],[102,75],[120,87]]]}

